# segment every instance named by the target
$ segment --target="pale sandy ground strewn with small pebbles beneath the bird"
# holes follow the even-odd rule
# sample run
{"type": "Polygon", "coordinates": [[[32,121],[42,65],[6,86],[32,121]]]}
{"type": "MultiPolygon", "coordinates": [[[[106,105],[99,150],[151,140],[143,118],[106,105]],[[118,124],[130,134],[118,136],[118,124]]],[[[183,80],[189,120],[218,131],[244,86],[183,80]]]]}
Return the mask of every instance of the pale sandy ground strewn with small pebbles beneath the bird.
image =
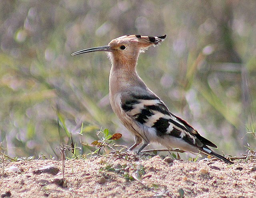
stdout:
{"type": "MultiPolygon", "coordinates": [[[[62,162],[30,160],[5,163],[1,197],[197,197],[255,198],[256,161],[226,165],[159,156],[107,155],[62,162]]],[[[1,165],[2,169],[2,165],[1,165]]]]}

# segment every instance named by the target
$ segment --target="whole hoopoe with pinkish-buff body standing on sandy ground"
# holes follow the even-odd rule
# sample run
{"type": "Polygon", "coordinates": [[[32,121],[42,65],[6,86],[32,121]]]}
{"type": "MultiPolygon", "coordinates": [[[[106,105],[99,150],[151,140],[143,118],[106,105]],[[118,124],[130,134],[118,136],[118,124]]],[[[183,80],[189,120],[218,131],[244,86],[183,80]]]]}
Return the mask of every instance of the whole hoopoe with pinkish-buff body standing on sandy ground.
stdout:
{"type": "Polygon", "coordinates": [[[172,114],[138,76],[136,65],[139,54],[165,38],[166,35],[124,35],[113,39],[108,45],[83,49],[71,55],[108,52],[112,64],[109,75],[110,105],[122,124],[134,135],[135,143],[129,151],[143,143],[139,153],[149,143],[156,142],[169,149],[179,148],[194,154],[202,152],[232,164],[209,148],[217,148],[214,143],[202,137],[185,120],[172,114]]]}

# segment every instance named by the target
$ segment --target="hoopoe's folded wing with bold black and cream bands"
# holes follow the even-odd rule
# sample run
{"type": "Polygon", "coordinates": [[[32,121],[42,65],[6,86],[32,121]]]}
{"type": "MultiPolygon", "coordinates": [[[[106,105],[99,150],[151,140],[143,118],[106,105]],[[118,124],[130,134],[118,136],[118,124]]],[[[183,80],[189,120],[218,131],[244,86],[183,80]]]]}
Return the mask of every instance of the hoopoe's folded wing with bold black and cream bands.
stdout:
{"type": "Polygon", "coordinates": [[[162,100],[150,90],[124,93],[121,96],[121,108],[134,121],[154,128],[158,136],[171,135],[198,148],[204,145],[217,148],[186,121],[170,113],[162,100]]]}

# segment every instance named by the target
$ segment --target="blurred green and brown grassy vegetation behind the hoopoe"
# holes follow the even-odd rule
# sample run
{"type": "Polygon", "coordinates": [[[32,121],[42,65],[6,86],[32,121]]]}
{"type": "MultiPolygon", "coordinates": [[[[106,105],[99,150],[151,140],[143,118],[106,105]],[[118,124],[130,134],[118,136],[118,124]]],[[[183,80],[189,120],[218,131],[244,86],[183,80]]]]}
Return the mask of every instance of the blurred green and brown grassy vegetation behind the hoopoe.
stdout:
{"type": "Polygon", "coordinates": [[[138,73],[171,112],[216,143],[218,153],[255,148],[255,8],[254,0],[0,0],[6,154],[56,156],[58,145],[70,144],[58,113],[77,145],[94,141],[101,127],[131,145],[110,107],[106,54],[70,56],[126,34],[167,34],[140,55],[138,73]]]}

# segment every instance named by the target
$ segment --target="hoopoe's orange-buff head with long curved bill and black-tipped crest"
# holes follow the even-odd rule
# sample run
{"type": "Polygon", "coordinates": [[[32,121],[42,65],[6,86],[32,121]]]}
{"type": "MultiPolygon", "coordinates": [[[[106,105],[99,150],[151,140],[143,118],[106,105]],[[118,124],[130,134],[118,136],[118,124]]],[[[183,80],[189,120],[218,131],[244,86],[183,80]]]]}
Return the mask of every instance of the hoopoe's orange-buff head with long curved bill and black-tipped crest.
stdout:
{"type": "Polygon", "coordinates": [[[93,47],[83,49],[72,53],[71,55],[78,55],[93,51],[110,52],[111,61],[129,62],[131,60],[137,61],[140,52],[144,52],[150,46],[156,46],[166,38],[162,36],[141,36],[141,35],[124,35],[113,39],[108,45],[101,47],[93,47]]]}

